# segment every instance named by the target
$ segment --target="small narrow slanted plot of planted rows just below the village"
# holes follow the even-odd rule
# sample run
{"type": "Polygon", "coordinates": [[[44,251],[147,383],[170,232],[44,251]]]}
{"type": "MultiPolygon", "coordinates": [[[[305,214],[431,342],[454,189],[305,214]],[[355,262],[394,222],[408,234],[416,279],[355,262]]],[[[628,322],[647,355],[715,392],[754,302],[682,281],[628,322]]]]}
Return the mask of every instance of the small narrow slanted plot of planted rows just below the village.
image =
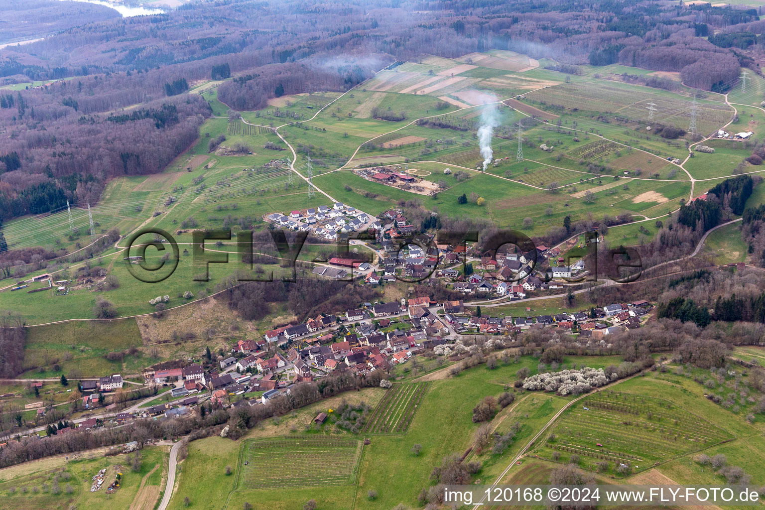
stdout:
{"type": "Polygon", "coordinates": [[[386,392],[363,428],[369,434],[406,434],[428,391],[427,382],[397,384],[386,392]]]}

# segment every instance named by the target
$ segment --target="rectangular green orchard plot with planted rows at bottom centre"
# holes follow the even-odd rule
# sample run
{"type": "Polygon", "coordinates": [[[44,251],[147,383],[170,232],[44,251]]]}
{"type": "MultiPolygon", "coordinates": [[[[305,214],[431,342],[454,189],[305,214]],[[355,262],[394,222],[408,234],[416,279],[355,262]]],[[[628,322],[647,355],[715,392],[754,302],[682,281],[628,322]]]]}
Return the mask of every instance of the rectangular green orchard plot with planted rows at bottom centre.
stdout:
{"type": "Polygon", "coordinates": [[[273,437],[246,440],[237,489],[288,489],[352,484],[360,440],[340,437],[273,437]]]}

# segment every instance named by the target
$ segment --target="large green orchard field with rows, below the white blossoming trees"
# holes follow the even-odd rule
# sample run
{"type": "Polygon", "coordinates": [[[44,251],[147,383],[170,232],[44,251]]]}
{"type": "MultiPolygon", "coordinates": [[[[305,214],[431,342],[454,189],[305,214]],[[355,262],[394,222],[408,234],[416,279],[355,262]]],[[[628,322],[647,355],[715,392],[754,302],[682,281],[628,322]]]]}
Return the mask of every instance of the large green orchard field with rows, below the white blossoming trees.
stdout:
{"type": "Polygon", "coordinates": [[[669,401],[606,390],[567,411],[539,452],[562,462],[586,456],[612,463],[614,469],[619,464],[648,469],[731,439],[732,434],[669,401]]]}

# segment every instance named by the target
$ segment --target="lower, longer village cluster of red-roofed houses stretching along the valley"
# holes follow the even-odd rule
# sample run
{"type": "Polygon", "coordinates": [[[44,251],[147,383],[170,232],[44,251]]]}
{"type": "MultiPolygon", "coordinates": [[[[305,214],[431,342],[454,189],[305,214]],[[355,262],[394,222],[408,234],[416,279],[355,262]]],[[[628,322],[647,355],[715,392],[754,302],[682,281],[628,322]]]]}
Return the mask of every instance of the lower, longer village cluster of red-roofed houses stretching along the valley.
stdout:
{"type": "MultiPolygon", "coordinates": [[[[43,402],[30,404],[37,407],[38,423],[31,435],[44,440],[77,429],[123,427],[142,418],[173,420],[219,408],[264,405],[289,395],[294,385],[335,372],[364,377],[379,371],[395,380],[396,367],[413,356],[442,357],[447,362],[463,339],[477,335],[503,336],[513,346],[522,331],[553,328],[583,349],[610,349],[608,336],[640,327],[652,306],[635,300],[553,315],[526,310],[528,315],[519,317],[492,316],[480,313],[480,307],[470,311],[463,300],[437,302],[428,296],[360,303],[357,308],[321,313],[303,323],[266,331],[259,338],[239,339],[229,352],[217,356],[208,352],[187,365],[163,362],[148,367],[142,371],[143,382],[132,382],[151,389],[148,398],[137,403],[118,404],[116,395],[125,391],[122,375],[80,381],[84,414],[42,426],[50,407],[43,407],[43,402]]],[[[32,384],[39,390],[50,383],[32,384]]],[[[132,450],[135,445],[124,448],[132,450]]]]}

